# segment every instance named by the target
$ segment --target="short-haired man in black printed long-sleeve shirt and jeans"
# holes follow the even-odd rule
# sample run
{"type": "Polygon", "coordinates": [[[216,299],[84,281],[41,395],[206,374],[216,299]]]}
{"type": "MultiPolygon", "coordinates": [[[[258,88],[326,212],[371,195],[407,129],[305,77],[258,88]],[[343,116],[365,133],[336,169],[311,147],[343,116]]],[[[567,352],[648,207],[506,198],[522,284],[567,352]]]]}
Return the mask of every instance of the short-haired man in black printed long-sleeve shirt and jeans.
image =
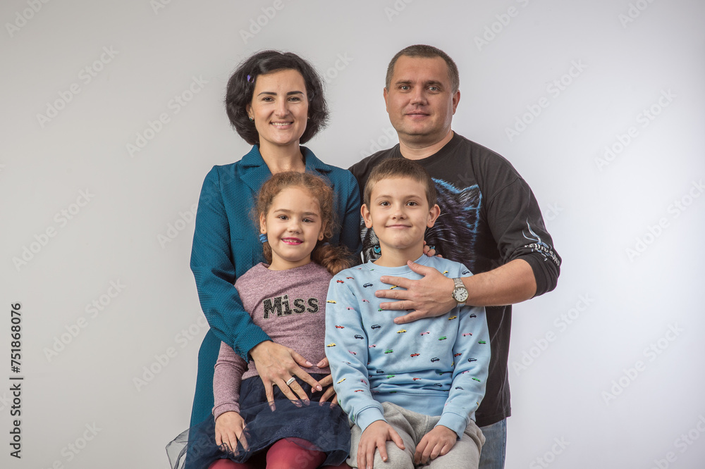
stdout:
{"type": "MultiPolygon", "coordinates": [[[[379,151],[350,170],[364,187],[374,166],[387,158],[409,158],[426,168],[439,189],[441,215],[426,234],[436,253],[467,265],[474,275],[460,279],[410,263],[420,280],[381,277],[400,289],[376,295],[400,299],[381,304],[410,310],[398,324],[439,316],[459,304],[486,306],[491,337],[489,380],[477,410],[486,443],[479,467],[503,468],[506,418],[511,414],[507,373],[510,305],[551,291],[560,257],[534,194],[502,156],[451,130],[460,101],[460,79],[453,60],[432,46],[409,46],[389,63],[384,88],[389,120],[399,144],[379,151]]],[[[379,256],[373,230],[362,228],[365,261],[379,256]]]]}

